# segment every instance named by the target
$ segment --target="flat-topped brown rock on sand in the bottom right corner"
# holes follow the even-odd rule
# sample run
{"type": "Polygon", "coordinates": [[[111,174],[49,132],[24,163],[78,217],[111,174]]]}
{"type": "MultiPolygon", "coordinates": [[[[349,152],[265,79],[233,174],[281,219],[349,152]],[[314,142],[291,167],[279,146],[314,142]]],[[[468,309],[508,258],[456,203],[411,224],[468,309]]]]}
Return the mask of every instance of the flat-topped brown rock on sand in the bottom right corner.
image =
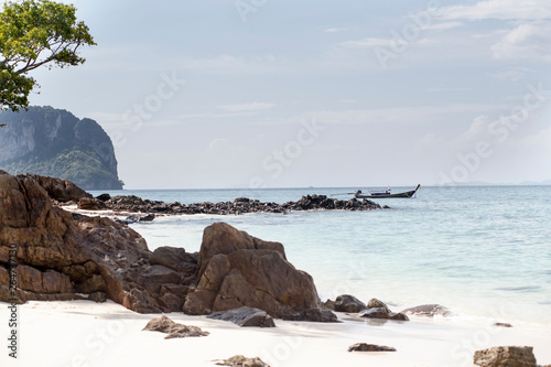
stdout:
{"type": "Polygon", "coordinates": [[[476,350],[474,364],[480,367],[537,367],[532,347],[497,346],[476,350]]]}

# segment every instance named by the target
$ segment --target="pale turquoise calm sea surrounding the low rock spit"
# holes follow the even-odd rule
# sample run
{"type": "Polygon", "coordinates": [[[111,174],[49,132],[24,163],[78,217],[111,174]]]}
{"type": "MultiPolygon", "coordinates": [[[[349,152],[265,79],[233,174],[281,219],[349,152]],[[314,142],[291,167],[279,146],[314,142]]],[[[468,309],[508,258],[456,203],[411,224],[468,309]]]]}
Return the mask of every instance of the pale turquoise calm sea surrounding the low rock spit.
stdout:
{"type": "MultiPolygon", "coordinates": [[[[309,194],[346,199],[357,188],[108,193],[169,203],[249,197],[282,204],[309,194]]],[[[390,209],[161,216],[131,227],[151,250],[198,251],[204,228],[216,222],[279,241],[289,261],[313,277],[323,301],[377,298],[395,311],[436,303],[457,317],[551,327],[551,186],[423,186],[413,198],[376,202],[390,209]]]]}

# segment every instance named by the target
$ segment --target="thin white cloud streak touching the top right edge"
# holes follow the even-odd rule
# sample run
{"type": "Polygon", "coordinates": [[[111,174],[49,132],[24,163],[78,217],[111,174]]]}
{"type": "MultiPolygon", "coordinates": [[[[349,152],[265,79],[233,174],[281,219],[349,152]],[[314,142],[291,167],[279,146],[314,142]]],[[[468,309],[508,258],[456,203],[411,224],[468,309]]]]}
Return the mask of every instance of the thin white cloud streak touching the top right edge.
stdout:
{"type": "Polygon", "coordinates": [[[487,0],[473,6],[453,6],[442,9],[443,19],[538,20],[551,18],[549,0],[487,0]]]}

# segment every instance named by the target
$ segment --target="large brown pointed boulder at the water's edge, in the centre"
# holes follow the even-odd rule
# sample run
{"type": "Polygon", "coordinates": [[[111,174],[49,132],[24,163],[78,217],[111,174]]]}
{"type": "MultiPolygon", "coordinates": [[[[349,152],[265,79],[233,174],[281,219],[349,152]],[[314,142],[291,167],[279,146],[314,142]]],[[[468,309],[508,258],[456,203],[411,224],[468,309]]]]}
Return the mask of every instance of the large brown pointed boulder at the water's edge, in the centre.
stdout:
{"type": "Polygon", "coordinates": [[[322,309],[312,277],[287,261],[281,244],[224,223],[205,228],[197,276],[197,288],[184,304],[188,314],[248,306],[281,319],[322,309]]]}

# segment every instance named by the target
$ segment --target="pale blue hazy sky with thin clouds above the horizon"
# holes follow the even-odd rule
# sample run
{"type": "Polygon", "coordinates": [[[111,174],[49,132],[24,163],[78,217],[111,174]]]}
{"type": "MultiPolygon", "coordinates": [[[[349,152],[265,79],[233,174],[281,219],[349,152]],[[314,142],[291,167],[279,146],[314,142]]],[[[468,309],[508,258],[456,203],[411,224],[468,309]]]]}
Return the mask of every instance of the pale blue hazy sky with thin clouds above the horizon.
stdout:
{"type": "Polygon", "coordinates": [[[97,46],[31,104],[126,188],[551,179],[551,1],[75,0],[97,46]]]}

